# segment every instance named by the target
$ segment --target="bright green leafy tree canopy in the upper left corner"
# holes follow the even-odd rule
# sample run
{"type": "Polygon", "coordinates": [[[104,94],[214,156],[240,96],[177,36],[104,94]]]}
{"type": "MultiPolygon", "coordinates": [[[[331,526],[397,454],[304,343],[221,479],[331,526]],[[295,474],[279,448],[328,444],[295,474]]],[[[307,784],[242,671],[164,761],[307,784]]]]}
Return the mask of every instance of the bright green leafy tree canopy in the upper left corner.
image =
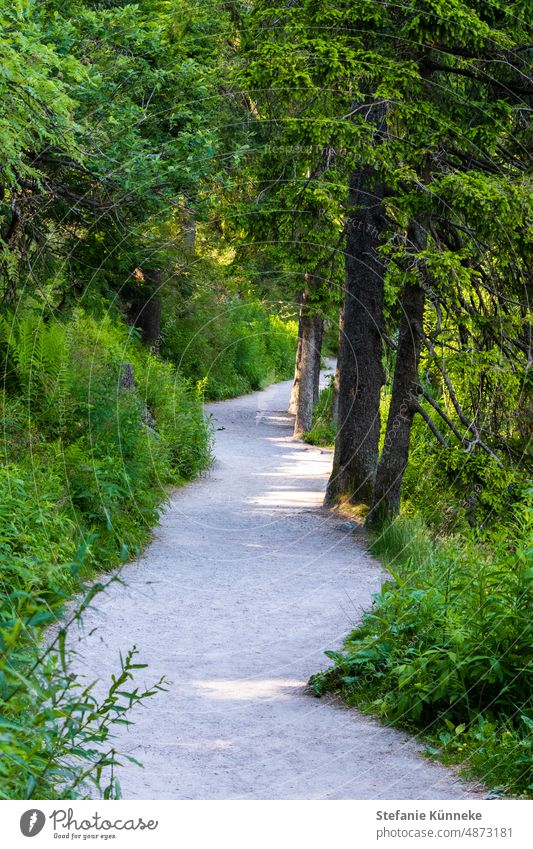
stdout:
{"type": "Polygon", "coordinates": [[[0,2],[5,299],[131,289],[183,249],[234,161],[228,26],[211,0],[0,2]]]}

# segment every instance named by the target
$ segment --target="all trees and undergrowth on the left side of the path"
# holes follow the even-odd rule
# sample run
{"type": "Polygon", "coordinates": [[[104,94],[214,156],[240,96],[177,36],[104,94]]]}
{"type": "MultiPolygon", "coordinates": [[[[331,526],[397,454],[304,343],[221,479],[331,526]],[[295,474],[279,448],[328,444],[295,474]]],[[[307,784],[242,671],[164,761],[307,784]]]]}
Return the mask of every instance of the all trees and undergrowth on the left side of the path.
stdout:
{"type": "Polygon", "coordinates": [[[117,646],[95,696],[67,631],[208,468],[203,401],[294,368],[294,307],[206,235],[238,159],[227,27],[210,4],[0,3],[2,798],[120,794],[113,728],[164,683],[117,646]]]}

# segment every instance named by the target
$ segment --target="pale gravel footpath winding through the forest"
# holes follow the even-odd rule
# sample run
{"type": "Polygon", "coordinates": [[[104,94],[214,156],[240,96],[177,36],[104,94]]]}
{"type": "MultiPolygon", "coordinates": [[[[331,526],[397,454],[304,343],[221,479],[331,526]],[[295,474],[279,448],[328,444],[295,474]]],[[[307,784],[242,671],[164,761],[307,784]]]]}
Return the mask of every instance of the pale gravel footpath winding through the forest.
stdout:
{"type": "Polygon", "coordinates": [[[304,693],[383,573],[321,511],[331,454],[291,438],[290,384],[208,407],[213,471],[177,491],[142,559],[85,616],[79,668],[136,644],[170,692],[118,746],[126,799],[462,799],[400,732],[304,693]]]}

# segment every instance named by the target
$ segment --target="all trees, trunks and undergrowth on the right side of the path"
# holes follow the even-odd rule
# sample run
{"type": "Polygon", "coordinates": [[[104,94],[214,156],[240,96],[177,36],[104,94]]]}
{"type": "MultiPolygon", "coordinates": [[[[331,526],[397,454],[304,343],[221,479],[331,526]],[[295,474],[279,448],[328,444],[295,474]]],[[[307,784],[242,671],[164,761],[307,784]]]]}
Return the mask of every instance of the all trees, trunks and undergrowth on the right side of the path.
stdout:
{"type": "Polygon", "coordinates": [[[300,270],[295,433],[334,445],[325,506],[364,520],[391,573],[313,687],[520,796],[533,791],[524,12],[260,0],[241,77],[264,145],[250,231],[300,270]],[[319,398],[320,322],[337,317],[336,385],[319,398]]]}

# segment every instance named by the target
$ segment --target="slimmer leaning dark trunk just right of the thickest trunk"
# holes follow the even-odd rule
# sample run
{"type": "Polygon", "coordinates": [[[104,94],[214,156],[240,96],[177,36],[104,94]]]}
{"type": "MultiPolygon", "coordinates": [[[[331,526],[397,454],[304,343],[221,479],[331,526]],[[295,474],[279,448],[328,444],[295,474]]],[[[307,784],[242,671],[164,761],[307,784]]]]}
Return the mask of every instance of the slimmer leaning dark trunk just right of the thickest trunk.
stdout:
{"type": "MultiPolygon", "coordinates": [[[[417,250],[423,250],[425,233],[420,225],[412,224],[408,236],[417,250]]],[[[424,317],[424,289],[420,284],[406,284],[401,309],[400,336],[387,430],[376,475],[372,507],[367,518],[367,524],[371,526],[379,526],[382,522],[392,519],[400,510],[403,474],[409,460],[411,426],[420,394],[418,364],[424,317]]]]}

